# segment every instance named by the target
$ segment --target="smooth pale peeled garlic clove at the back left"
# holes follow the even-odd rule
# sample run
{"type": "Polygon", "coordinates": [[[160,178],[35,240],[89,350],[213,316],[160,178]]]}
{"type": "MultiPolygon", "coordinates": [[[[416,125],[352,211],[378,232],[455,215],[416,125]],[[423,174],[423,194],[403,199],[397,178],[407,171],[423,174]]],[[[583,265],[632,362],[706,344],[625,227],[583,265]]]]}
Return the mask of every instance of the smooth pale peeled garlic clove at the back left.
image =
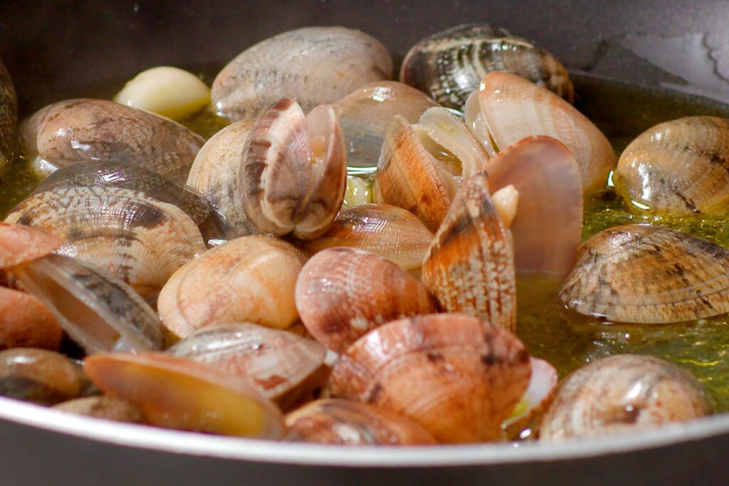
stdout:
{"type": "Polygon", "coordinates": [[[210,88],[188,71],[158,66],[133,77],[114,96],[114,101],[178,120],[206,106],[210,102],[210,88]]]}

